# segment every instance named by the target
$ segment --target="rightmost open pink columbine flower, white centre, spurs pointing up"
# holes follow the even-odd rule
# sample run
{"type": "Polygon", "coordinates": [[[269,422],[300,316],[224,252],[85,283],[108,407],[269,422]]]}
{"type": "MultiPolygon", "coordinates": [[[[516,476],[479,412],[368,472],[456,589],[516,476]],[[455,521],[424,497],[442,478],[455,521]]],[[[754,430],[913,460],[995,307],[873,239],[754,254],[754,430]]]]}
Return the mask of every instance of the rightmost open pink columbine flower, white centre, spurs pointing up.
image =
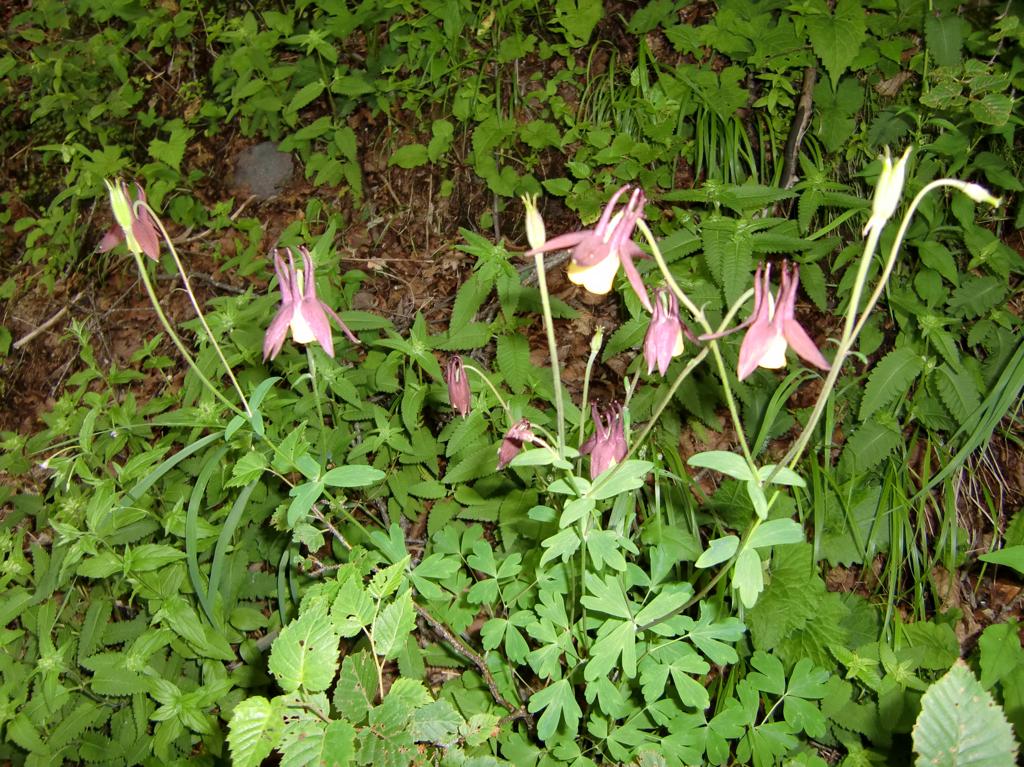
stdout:
{"type": "Polygon", "coordinates": [[[821,370],[829,365],[814,341],[807,335],[796,318],[797,288],[800,272],[794,264],[782,264],[782,279],[778,293],[772,299],[769,274],[771,265],[758,266],[754,275],[754,313],[743,343],[739,347],[737,375],[742,381],[758,368],[778,369],[785,367],[785,347],[793,350],[805,361],[821,370]],[[763,268],[763,271],[762,271],[763,268]]]}

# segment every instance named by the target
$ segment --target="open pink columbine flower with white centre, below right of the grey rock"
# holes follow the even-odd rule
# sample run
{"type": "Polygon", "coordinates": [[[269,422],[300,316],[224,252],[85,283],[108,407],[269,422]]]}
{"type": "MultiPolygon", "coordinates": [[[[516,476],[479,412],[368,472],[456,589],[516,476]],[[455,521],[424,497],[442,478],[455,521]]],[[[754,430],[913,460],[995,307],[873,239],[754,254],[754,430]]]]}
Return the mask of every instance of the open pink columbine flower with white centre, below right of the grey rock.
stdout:
{"type": "Polygon", "coordinates": [[[278,253],[273,252],[273,268],[278,272],[278,287],[281,288],[281,308],[278,309],[273,322],[266,329],[263,338],[263,358],[273,359],[278,356],[288,331],[292,331],[295,343],[307,344],[316,341],[324,347],[329,356],[334,356],[334,339],[331,338],[331,323],[328,314],[348,336],[352,343],[358,339],[341,321],[334,309],[316,297],[316,278],[313,274],[313,259],[304,247],[299,248],[302,255],[302,271],[295,268],[295,258],[292,249],[285,248],[288,253],[288,265],[278,253]]]}

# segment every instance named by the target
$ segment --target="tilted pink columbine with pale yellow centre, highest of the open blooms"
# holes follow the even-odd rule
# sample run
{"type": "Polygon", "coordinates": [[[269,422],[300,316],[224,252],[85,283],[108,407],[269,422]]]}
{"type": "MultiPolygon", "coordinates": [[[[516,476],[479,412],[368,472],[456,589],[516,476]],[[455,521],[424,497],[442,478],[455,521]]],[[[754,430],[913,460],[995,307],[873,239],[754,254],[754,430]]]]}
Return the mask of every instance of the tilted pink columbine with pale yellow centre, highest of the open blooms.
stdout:
{"type": "Polygon", "coordinates": [[[615,211],[618,199],[630,188],[629,184],[620,187],[611,196],[604,207],[601,218],[593,229],[571,231],[559,235],[540,247],[527,251],[527,255],[547,253],[553,250],[572,249],[569,260],[569,281],[582,285],[591,293],[604,296],[611,291],[618,265],[623,265],[626,276],[640,298],[647,311],[651,311],[650,298],[644,287],[640,272],[633,264],[633,259],[643,256],[644,252],[633,242],[633,229],[643,215],[646,198],[641,189],[633,189],[629,202],[622,210],[615,211]]]}

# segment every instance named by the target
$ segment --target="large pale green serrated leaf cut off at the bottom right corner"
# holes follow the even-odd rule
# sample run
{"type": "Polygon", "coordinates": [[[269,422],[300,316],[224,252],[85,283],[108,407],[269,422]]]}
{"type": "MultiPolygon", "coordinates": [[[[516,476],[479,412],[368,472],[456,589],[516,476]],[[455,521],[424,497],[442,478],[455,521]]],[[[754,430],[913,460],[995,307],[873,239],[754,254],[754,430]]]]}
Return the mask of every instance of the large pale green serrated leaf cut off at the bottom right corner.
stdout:
{"type": "Polygon", "coordinates": [[[1017,757],[1002,710],[959,659],[922,696],[913,748],[918,767],[1005,767],[1017,757]]]}

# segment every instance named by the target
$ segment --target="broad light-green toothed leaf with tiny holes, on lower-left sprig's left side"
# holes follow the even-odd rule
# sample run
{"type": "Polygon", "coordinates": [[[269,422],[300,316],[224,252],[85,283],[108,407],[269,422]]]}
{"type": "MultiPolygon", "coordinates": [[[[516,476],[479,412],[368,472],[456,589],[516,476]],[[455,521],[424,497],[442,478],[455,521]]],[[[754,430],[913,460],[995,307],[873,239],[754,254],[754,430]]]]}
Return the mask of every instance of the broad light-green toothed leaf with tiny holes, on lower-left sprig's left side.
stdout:
{"type": "Polygon", "coordinates": [[[327,604],[313,602],[281,631],[270,649],[267,667],[286,692],[302,688],[323,692],[338,669],[339,636],[327,613],[327,604]]]}

